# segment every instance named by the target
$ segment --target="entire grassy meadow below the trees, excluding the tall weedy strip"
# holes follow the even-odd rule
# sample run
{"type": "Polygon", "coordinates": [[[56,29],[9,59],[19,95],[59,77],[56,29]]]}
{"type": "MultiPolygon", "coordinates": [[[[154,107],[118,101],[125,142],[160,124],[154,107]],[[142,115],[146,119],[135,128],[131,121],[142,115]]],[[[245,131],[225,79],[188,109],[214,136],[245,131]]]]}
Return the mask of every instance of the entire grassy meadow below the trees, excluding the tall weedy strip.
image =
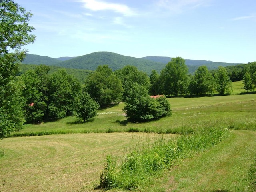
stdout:
{"type": "Polygon", "coordinates": [[[120,103],[84,124],[67,117],[26,125],[0,141],[0,191],[101,191],[97,186],[107,156],[117,161],[118,173],[134,151],[141,154],[159,140],[176,141],[212,128],[228,134],[208,148],[198,134],[196,150],[149,174],[134,190],[255,191],[256,94],[168,100],[172,116],[152,122],[128,122],[120,103]]]}

